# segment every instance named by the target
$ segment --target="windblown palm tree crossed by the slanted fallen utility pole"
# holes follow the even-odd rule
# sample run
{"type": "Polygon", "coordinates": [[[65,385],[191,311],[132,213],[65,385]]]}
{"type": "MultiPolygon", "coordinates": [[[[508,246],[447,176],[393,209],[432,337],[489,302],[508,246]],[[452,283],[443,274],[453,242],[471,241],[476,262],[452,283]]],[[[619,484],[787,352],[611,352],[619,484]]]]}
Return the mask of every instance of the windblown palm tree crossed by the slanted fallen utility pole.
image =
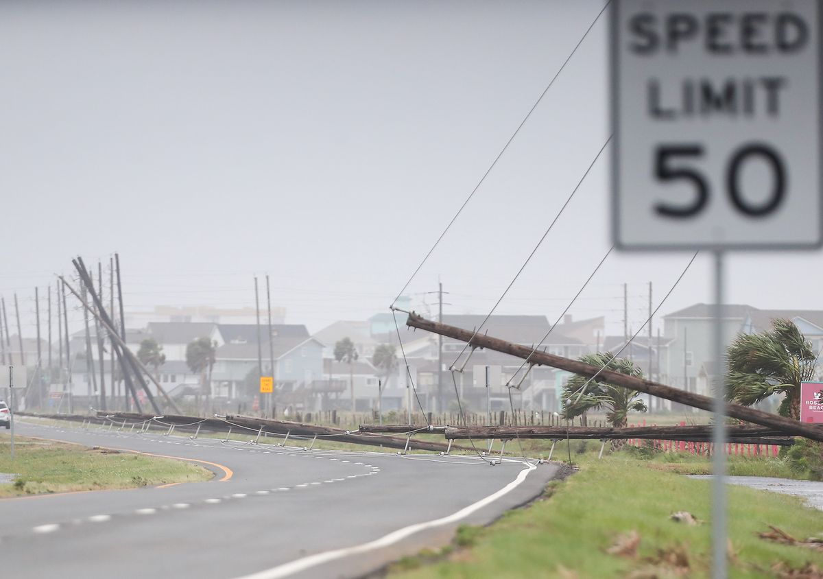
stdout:
{"type": "MultiPolygon", "coordinates": [[[[610,352],[586,354],[578,359],[598,368],[605,367],[635,378],[643,377],[643,371],[634,362],[613,357],[610,352]]],[[[629,390],[607,382],[593,380],[588,383],[583,395],[579,396],[579,390],[587,381],[587,376],[575,374],[566,382],[563,387],[563,418],[570,420],[590,409],[605,409],[607,421],[617,428],[628,425],[630,410],[646,412],[646,404],[639,399],[638,390],[629,390]]],[[[612,448],[616,448],[614,442],[612,448]]]]}

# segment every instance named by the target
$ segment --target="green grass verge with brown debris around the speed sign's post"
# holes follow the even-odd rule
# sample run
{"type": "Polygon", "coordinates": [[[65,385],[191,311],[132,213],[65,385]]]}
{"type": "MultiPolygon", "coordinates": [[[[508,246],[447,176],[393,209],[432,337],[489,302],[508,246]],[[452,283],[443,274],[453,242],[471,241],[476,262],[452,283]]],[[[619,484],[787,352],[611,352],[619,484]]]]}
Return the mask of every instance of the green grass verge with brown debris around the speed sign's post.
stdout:
{"type": "MultiPolygon", "coordinates": [[[[488,527],[462,527],[440,553],[405,558],[390,575],[421,577],[675,577],[660,553],[681,553],[680,577],[709,577],[710,524],[671,521],[675,511],[709,520],[709,482],[649,469],[618,454],[579,455],[579,473],[551,485],[546,497],[488,527]],[[551,496],[551,497],[550,497],[551,496]],[[607,553],[618,535],[636,531],[636,558],[607,553]],[[634,573],[634,575],[633,575],[634,573]]],[[[823,551],[775,544],[757,533],[774,525],[799,539],[820,536],[823,517],[796,497],[730,487],[730,577],[775,577],[771,567],[823,566],[823,551]]]]}

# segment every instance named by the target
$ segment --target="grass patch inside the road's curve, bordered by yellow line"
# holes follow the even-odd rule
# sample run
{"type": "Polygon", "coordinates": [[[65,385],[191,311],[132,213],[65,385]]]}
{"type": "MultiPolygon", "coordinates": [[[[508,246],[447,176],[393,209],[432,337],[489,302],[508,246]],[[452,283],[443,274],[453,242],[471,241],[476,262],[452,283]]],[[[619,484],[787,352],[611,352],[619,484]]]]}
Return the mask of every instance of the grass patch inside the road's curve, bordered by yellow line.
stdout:
{"type": "Polygon", "coordinates": [[[0,484],[0,497],[40,493],[136,488],[188,483],[212,478],[211,471],[182,460],[161,459],[129,452],[0,435],[0,473],[17,474],[13,483],[0,484]]]}

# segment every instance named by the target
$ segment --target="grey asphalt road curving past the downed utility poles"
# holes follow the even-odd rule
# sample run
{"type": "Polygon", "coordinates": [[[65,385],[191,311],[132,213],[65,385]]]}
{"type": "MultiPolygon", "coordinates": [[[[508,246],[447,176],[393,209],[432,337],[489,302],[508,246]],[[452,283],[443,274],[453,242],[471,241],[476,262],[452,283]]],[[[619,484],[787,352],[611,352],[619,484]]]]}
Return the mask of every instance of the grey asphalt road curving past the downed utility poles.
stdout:
{"type": "Polygon", "coordinates": [[[447,543],[459,524],[493,521],[560,470],[31,421],[18,421],[16,432],[207,461],[215,477],[0,500],[4,577],[360,577],[447,543]]]}

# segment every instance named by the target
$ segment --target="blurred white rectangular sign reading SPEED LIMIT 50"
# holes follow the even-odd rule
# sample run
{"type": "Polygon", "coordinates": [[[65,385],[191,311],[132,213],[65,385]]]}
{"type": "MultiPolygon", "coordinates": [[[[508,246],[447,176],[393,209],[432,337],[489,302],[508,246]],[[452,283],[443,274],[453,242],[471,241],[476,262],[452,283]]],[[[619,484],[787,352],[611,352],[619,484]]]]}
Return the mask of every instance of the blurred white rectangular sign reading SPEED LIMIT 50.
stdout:
{"type": "Polygon", "coordinates": [[[816,0],[617,0],[612,231],[625,250],[821,245],[816,0]]]}

